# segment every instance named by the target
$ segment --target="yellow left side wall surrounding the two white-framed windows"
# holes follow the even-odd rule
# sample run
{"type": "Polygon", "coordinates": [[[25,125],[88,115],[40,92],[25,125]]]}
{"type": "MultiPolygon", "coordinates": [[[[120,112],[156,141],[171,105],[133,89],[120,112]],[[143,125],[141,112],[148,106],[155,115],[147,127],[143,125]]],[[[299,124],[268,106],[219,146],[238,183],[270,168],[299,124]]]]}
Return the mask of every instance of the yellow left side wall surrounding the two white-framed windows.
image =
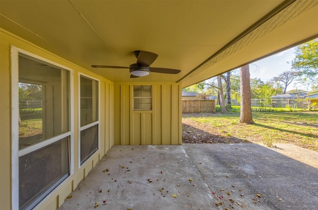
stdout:
{"type": "MultiPolygon", "coordinates": [[[[67,61],[51,52],[47,52],[15,35],[0,29],[0,209],[10,210],[11,200],[11,69],[10,69],[10,47],[11,45],[37,54],[53,62],[73,69],[73,99],[74,99],[74,174],[71,175],[62,185],[55,190],[39,206],[40,210],[56,210],[64,203],[67,195],[74,190],[84,176],[91,170],[98,160],[114,144],[113,133],[113,102],[114,86],[113,83],[103,77],[93,74],[73,63],[67,61]],[[79,93],[78,93],[78,73],[81,72],[100,81],[100,149],[90,157],[80,168],[79,157],[79,93]]],[[[128,89],[129,95],[129,89],[128,89]]],[[[129,107],[129,101],[128,101],[129,107]]],[[[128,109],[129,110],[129,109],[128,109]]],[[[129,127],[129,126],[128,126],[129,127]]],[[[16,182],[18,180],[15,180],[16,182]]],[[[17,201],[16,201],[17,202],[17,201]]]]}

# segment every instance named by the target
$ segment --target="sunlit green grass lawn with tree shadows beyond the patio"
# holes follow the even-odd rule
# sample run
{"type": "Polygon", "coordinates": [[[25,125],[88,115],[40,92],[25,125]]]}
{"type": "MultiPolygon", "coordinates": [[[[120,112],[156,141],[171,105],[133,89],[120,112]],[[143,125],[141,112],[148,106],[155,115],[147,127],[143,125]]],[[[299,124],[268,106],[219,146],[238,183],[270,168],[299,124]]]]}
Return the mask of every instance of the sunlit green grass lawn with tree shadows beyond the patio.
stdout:
{"type": "MultiPolygon", "coordinates": [[[[318,111],[266,111],[252,112],[255,124],[239,123],[239,112],[183,114],[213,127],[220,136],[233,136],[252,143],[275,146],[290,143],[318,152],[318,111]]],[[[210,127],[210,126],[209,126],[210,127]]]]}

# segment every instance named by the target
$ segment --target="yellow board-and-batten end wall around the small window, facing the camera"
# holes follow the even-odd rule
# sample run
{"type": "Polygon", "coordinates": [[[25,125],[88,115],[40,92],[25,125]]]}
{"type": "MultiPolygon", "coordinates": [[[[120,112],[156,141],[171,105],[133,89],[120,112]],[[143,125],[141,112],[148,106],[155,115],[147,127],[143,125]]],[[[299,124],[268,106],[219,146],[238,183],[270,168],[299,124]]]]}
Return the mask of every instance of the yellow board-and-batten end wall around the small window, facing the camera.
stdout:
{"type": "Polygon", "coordinates": [[[114,145],[182,143],[181,84],[114,83],[114,145]],[[133,110],[133,85],[152,86],[152,110],[133,110]]]}

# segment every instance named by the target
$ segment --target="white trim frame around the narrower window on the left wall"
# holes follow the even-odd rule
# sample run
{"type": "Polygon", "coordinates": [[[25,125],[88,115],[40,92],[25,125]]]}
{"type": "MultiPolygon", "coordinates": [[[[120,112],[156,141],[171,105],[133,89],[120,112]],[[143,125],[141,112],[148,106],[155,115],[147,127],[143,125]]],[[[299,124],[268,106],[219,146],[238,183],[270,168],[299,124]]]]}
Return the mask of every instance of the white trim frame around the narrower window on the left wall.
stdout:
{"type": "Polygon", "coordinates": [[[88,161],[90,161],[90,159],[96,154],[96,153],[98,153],[99,152],[99,150],[100,150],[100,81],[99,81],[99,79],[96,79],[95,77],[92,77],[92,76],[89,76],[89,75],[87,75],[87,74],[84,74],[84,73],[81,73],[81,72],[79,72],[79,74],[78,74],[78,93],[79,93],[79,142],[78,142],[78,145],[79,145],[79,157],[78,157],[78,165],[79,165],[79,168],[82,166],[82,165],[85,165],[85,163],[86,162],[88,162],[88,161]],[[84,76],[84,77],[87,77],[87,78],[89,78],[89,79],[93,79],[93,80],[96,80],[97,82],[98,82],[98,102],[97,102],[97,105],[98,105],[98,115],[97,115],[97,121],[95,121],[95,122],[92,122],[92,123],[90,123],[90,124],[88,124],[88,125],[84,125],[84,126],[82,126],[82,127],[80,127],[80,76],[84,76]],[[90,128],[90,127],[92,127],[92,126],[94,126],[94,125],[97,125],[98,124],[98,148],[97,148],[97,151],[94,153],[94,154],[92,154],[90,157],[88,157],[82,164],[80,164],[80,131],[82,131],[82,130],[85,130],[85,129],[87,129],[87,128],[90,128]]]}

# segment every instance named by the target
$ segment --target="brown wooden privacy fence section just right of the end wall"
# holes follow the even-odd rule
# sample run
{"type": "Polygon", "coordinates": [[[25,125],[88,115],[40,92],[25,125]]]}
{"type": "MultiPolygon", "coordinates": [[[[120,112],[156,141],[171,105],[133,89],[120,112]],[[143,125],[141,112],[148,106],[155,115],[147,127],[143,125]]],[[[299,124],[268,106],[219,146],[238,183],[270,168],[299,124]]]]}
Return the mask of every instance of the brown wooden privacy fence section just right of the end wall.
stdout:
{"type": "Polygon", "coordinates": [[[215,100],[201,100],[201,99],[183,99],[182,113],[194,112],[213,112],[215,111],[215,100]]]}

